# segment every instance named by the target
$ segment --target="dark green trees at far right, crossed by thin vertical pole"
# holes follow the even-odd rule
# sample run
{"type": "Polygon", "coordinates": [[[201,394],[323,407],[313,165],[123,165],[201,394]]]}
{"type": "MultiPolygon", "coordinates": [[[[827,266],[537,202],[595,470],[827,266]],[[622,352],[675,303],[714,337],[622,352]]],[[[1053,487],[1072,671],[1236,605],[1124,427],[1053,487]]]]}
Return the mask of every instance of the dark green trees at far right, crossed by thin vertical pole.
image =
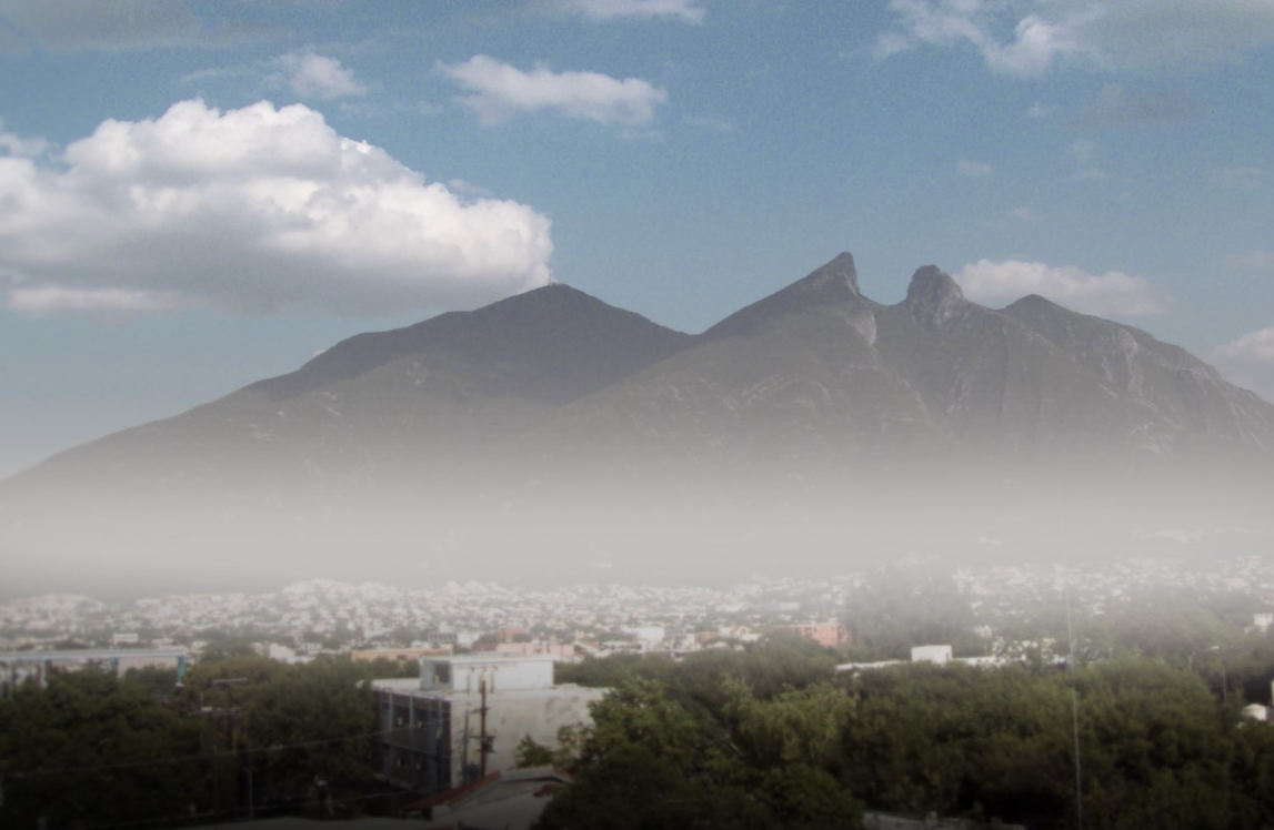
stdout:
{"type": "MultiPolygon", "coordinates": [[[[1237,727],[1184,667],[1112,659],[1077,680],[1087,827],[1269,826],[1274,799],[1256,788],[1274,774],[1268,729],[1237,727]]],[[[1023,668],[865,672],[854,684],[846,780],[884,810],[1066,826],[1069,682],[1023,668]]]]}

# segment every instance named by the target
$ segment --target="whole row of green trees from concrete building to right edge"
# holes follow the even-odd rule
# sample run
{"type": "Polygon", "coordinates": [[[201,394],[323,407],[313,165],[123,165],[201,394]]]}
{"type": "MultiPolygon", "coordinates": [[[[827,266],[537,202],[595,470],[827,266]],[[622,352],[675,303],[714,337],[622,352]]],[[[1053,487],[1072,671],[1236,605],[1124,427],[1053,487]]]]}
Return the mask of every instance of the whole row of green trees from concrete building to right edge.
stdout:
{"type": "Polygon", "coordinates": [[[1046,829],[1077,826],[1080,808],[1093,830],[1274,826],[1274,729],[1175,659],[1107,658],[1073,680],[1028,666],[833,677],[828,658],[771,639],[566,668],[617,691],[555,756],[524,743],[527,763],[577,777],[540,826],[852,827],[862,806],[1046,829]]]}

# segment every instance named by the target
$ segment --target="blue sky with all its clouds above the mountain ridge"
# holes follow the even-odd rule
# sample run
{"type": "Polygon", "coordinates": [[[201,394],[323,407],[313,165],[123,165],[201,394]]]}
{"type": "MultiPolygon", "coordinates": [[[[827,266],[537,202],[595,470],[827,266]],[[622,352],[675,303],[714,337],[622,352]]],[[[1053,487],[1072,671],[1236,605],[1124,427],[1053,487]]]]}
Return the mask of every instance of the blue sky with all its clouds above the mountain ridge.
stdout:
{"type": "Polygon", "coordinates": [[[0,0],[0,475],[567,283],[701,331],[841,251],[1274,397],[1271,0],[0,0]]]}

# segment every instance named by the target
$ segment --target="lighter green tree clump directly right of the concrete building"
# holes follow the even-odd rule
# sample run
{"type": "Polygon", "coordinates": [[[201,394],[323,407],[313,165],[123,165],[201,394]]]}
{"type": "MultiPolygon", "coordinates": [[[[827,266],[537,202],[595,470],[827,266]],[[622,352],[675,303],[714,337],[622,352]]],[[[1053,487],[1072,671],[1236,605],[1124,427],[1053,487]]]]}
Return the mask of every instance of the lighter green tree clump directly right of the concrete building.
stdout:
{"type": "Polygon", "coordinates": [[[697,718],[659,681],[632,677],[592,705],[576,783],[540,827],[861,826],[857,802],[824,765],[852,701],[831,684],[769,700],[719,679],[721,721],[697,718]]]}

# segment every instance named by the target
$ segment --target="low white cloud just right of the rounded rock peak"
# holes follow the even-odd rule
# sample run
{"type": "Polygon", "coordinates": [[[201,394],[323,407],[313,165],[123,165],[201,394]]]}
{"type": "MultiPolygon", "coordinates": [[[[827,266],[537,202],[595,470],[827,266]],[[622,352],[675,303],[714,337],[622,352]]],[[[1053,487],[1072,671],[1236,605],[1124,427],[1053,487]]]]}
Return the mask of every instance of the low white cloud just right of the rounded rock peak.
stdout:
{"type": "Polygon", "coordinates": [[[1167,299],[1149,280],[1121,271],[1088,274],[1073,265],[980,260],[954,275],[966,297],[985,306],[1006,306],[1040,294],[1085,314],[1143,317],[1167,311],[1167,299]]]}

